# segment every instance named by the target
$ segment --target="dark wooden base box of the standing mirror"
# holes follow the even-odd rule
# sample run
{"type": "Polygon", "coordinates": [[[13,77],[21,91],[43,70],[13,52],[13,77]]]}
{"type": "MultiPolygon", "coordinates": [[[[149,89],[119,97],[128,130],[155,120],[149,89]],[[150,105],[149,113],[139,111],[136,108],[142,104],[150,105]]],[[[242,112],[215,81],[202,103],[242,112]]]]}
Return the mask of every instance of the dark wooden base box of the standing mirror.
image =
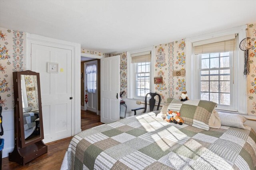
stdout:
{"type": "Polygon", "coordinates": [[[17,145],[15,145],[14,150],[9,153],[9,161],[24,166],[27,162],[46,153],[47,149],[47,146],[42,141],[38,141],[24,148],[18,148],[17,145]]]}

